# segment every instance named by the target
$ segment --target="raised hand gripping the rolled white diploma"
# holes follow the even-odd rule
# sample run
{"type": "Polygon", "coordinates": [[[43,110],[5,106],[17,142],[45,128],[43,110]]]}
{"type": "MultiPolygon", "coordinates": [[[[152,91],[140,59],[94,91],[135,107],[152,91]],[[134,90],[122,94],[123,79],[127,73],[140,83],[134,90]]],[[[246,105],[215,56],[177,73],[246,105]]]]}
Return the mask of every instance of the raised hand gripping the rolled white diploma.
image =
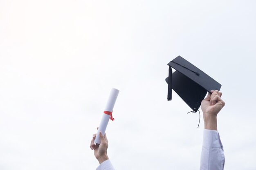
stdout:
{"type": "Polygon", "coordinates": [[[107,139],[106,133],[103,136],[102,132],[100,131],[99,137],[101,139],[101,144],[94,144],[95,137],[96,137],[96,134],[93,134],[90,148],[94,150],[94,156],[96,157],[96,159],[98,159],[99,164],[101,164],[102,162],[108,160],[108,154],[107,154],[108,139],[107,139]]]}

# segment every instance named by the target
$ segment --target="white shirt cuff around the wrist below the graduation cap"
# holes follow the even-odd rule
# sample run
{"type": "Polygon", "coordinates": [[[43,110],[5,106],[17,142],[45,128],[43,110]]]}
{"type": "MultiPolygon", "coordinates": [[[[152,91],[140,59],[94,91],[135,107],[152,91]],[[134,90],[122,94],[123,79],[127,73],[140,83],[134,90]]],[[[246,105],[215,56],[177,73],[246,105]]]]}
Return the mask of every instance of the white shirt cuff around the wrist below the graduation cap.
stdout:
{"type": "Polygon", "coordinates": [[[204,129],[203,146],[211,148],[223,148],[220,135],[217,130],[204,129]]]}

